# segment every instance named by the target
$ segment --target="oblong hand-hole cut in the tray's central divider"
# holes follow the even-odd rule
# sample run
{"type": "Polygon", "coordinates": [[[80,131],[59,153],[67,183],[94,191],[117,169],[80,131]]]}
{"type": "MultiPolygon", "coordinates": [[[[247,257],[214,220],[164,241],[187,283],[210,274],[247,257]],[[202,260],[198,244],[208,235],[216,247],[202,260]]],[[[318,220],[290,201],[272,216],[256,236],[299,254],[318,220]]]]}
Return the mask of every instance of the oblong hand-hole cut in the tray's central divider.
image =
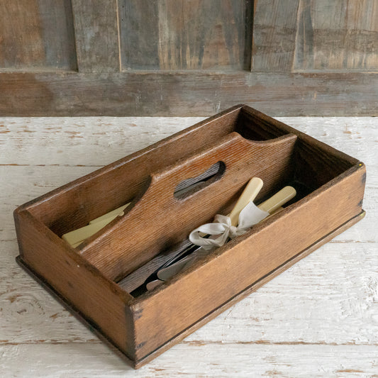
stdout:
{"type": "Polygon", "coordinates": [[[196,191],[204,189],[213,182],[216,182],[223,176],[225,171],[226,164],[222,161],[216,162],[198,176],[190,177],[189,179],[184,179],[182,182],[179,182],[174,189],[174,198],[185,199],[187,196],[191,196],[191,194],[194,194],[196,191]]]}

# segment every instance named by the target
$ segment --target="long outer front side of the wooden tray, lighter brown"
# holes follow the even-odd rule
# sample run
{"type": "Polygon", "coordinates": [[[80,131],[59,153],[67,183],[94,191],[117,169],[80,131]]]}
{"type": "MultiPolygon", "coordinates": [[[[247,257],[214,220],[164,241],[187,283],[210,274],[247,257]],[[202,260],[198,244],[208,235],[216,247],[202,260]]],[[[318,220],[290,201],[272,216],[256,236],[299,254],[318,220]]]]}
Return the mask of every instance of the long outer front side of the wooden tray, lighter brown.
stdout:
{"type": "Polygon", "coordinates": [[[361,213],[364,188],[365,166],[356,165],[140,297],[133,305],[137,359],[361,213]]]}

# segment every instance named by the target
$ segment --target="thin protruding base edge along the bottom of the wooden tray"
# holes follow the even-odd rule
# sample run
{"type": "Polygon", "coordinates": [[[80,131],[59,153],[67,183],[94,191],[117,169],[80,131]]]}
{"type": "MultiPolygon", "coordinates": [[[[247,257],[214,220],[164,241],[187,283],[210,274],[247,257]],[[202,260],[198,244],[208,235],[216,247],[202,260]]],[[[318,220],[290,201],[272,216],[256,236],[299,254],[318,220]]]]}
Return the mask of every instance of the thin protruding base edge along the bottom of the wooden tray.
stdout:
{"type": "Polygon", "coordinates": [[[284,262],[284,264],[280,265],[276,269],[272,270],[272,272],[269,272],[266,274],[264,277],[261,277],[258,279],[256,282],[251,284],[249,287],[245,288],[243,291],[240,291],[240,293],[236,294],[232,298],[228,299],[224,304],[219,306],[218,308],[215,308],[211,313],[208,313],[204,318],[199,319],[199,321],[196,321],[196,323],[192,324],[188,328],[182,330],[179,334],[174,336],[174,338],[168,340],[166,343],[162,344],[159,348],[151,352],[150,354],[146,355],[145,357],[141,358],[140,360],[130,360],[128,356],[126,356],[121,350],[119,350],[116,345],[113,345],[111,340],[104,335],[104,333],[101,333],[101,330],[99,329],[96,324],[91,323],[84,314],[82,314],[74,305],[70,304],[63,296],[61,296],[48,282],[45,281],[43,277],[41,277],[39,274],[35,273],[33,269],[31,269],[26,262],[23,261],[21,255],[16,257],[16,262],[18,262],[18,265],[20,265],[23,269],[26,270],[28,274],[30,274],[31,277],[35,279],[40,285],[42,285],[52,296],[57,299],[57,301],[60,302],[67,310],[69,310],[79,321],[84,323],[85,326],[89,328],[92,332],[94,332],[97,337],[104,343],[106,343],[113,352],[116,352],[118,355],[120,355],[123,360],[125,360],[129,365],[134,367],[135,369],[138,369],[139,367],[142,367],[146,363],[150,362],[153,360],[155,357],[158,355],[162,354],[162,352],[165,352],[165,350],[171,348],[173,345],[179,343],[181,340],[186,338],[188,335],[193,333],[195,330],[200,328],[201,326],[204,326],[208,321],[211,321],[211,319],[216,318],[220,313],[225,311],[227,308],[230,306],[233,306],[233,304],[237,303],[241,299],[245,298],[249,294],[252,293],[252,291],[255,291],[262,287],[263,284],[268,282],[270,279],[276,277],[278,274],[284,272],[284,270],[288,269],[291,267],[291,265],[294,265],[297,261],[301,260],[303,257],[306,257],[309,255],[311,252],[314,250],[318,249],[321,247],[321,245],[327,243],[329,240],[335,238],[336,235],[339,235],[342,233],[344,230],[347,228],[350,228],[350,226],[354,225],[358,221],[360,221],[362,218],[365,216],[365,211],[362,210],[361,213],[357,214],[357,216],[354,216],[353,218],[350,218],[349,221],[346,221],[343,223],[341,226],[338,228],[335,228],[335,230],[331,231],[327,235],[324,235],[323,238],[318,239],[315,243],[312,245],[308,246],[308,248],[302,250],[299,252],[297,255],[294,257],[291,257],[291,259],[287,260],[284,262]]]}

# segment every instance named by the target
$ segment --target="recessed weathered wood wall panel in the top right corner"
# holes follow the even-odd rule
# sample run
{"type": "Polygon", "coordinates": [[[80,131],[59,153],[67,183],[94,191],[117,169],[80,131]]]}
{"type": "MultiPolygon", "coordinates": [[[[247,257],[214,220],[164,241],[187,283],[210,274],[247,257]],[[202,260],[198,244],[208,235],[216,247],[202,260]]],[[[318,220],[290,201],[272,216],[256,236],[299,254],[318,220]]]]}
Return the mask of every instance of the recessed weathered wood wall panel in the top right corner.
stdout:
{"type": "Polygon", "coordinates": [[[377,1],[300,0],[294,70],[377,69],[377,1]]]}

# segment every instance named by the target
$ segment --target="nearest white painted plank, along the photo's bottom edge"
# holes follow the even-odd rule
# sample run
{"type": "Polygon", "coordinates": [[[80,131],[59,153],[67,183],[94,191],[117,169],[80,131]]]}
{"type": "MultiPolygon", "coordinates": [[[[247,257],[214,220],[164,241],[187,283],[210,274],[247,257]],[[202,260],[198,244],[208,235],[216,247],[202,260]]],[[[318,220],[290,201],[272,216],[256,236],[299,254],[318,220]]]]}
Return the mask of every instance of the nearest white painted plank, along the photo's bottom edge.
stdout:
{"type": "Polygon", "coordinates": [[[0,345],[0,355],[4,378],[352,378],[377,377],[378,371],[377,345],[182,343],[136,371],[104,345],[90,343],[0,345]]]}

